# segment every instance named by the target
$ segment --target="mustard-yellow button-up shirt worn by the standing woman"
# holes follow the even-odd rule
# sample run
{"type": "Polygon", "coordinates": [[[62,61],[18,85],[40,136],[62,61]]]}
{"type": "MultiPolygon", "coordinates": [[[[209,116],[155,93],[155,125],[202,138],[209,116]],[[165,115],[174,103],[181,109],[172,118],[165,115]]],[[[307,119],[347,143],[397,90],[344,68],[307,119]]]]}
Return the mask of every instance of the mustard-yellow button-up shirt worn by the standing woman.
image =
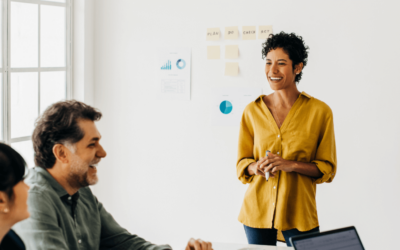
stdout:
{"type": "MultiPolygon", "coordinates": [[[[319,226],[316,184],[333,180],[336,161],[333,115],[328,105],[303,92],[279,129],[260,96],[247,105],[240,124],[237,176],[250,185],[239,221],[279,231],[297,228],[304,232],[319,226]],[[278,171],[267,181],[260,175],[246,175],[246,168],[264,157],[266,150],[286,160],[312,162],[323,176],[316,179],[278,171]]],[[[278,239],[284,240],[280,233],[278,239]]]]}

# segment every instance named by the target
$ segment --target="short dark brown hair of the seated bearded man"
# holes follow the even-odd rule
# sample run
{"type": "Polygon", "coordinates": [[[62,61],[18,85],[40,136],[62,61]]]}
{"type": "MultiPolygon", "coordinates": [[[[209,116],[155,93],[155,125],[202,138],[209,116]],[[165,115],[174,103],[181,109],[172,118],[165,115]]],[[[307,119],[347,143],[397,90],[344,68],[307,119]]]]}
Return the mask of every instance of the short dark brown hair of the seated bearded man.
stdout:
{"type": "Polygon", "coordinates": [[[78,120],[98,121],[101,116],[97,109],[75,100],[57,102],[48,107],[36,120],[32,135],[36,166],[52,168],[56,162],[54,145],[80,141],[84,132],[78,120]]]}

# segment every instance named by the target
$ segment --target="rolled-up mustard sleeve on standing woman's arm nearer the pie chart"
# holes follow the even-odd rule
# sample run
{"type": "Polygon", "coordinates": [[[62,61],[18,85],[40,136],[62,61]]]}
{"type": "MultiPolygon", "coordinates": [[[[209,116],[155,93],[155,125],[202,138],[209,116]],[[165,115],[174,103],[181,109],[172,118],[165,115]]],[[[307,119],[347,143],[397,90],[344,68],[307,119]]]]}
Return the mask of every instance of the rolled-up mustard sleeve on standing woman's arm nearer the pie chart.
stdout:
{"type": "Polygon", "coordinates": [[[243,184],[250,183],[253,180],[254,175],[247,175],[246,168],[251,163],[256,162],[253,155],[254,131],[247,113],[245,110],[240,122],[238,161],[236,164],[238,179],[243,184]]]}

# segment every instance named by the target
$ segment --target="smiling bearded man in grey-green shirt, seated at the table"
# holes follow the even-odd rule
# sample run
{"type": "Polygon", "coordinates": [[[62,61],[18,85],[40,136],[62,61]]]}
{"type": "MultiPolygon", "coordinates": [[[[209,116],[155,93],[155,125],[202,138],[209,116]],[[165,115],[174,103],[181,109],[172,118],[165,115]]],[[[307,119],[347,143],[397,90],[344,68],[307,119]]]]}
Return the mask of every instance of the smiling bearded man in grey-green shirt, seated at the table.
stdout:
{"type": "MultiPolygon", "coordinates": [[[[14,226],[27,249],[171,249],[130,234],[93,195],[97,164],[106,157],[95,121],[102,114],[78,102],[58,102],[38,119],[32,135],[34,169],[30,218],[14,226]]],[[[211,243],[191,239],[186,250],[212,250],[211,243]]]]}

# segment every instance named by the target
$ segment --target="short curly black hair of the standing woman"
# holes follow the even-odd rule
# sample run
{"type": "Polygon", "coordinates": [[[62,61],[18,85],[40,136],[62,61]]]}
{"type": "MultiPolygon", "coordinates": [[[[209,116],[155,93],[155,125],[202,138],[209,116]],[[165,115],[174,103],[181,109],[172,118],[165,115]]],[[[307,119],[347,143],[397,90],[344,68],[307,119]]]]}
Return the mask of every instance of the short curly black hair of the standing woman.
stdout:
{"type": "MultiPolygon", "coordinates": [[[[303,68],[307,65],[308,50],[310,49],[304,43],[301,36],[297,36],[295,33],[281,32],[278,34],[271,34],[262,44],[262,59],[267,57],[268,52],[276,48],[282,48],[288,55],[290,60],[293,62],[293,69],[299,63],[303,63],[303,68]]],[[[296,75],[295,82],[300,82],[303,71],[296,75]]]]}

